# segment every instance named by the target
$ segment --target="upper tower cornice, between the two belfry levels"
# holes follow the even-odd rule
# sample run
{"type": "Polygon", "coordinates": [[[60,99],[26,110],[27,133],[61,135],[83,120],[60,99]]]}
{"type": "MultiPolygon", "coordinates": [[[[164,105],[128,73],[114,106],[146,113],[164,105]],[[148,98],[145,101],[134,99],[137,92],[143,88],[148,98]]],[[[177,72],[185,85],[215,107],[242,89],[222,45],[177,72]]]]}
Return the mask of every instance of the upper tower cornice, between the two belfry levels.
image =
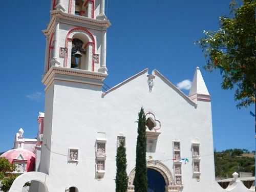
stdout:
{"type": "Polygon", "coordinates": [[[72,22],[74,24],[74,22],[76,22],[78,24],[77,26],[87,27],[89,25],[90,27],[87,27],[87,28],[96,29],[96,30],[105,30],[106,28],[111,26],[109,19],[99,20],[99,19],[84,17],[80,15],[74,15],[70,13],[65,13],[60,9],[52,10],[51,15],[52,15],[52,18],[50,20],[50,23],[47,26],[47,29],[42,30],[42,32],[45,35],[48,35],[54,29],[56,22],[67,23],[67,24],[72,24],[72,22]]]}

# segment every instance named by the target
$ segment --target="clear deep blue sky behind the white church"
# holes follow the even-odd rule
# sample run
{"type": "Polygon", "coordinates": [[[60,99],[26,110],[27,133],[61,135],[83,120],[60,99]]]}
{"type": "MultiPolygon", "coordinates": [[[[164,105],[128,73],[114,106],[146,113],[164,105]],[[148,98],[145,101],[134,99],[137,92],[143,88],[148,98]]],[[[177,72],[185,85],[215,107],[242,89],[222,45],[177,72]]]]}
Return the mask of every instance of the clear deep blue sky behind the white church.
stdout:
{"type": "MultiPolygon", "coordinates": [[[[234,92],[221,89],[219,71],[202,69],[205,59],[194,45],[203,30],[218,29],[219,16],[229,13],[229,1],[105,1],[112,23],[107,33],[105,83],[112,87],[149,68],[177,84],[192,80],[199,66],[212,99],[215,148],[254,150],[254,118],[249,115],[253,106],[236,109],[234,92]]],[[[20,127],[26,138],[36,137],[38,112],[44,112],[45,36],[41,30],[49,23],[50,0],[5,1],[0,9],[0,152],[4,152],[13,147],[20,127]]]]}

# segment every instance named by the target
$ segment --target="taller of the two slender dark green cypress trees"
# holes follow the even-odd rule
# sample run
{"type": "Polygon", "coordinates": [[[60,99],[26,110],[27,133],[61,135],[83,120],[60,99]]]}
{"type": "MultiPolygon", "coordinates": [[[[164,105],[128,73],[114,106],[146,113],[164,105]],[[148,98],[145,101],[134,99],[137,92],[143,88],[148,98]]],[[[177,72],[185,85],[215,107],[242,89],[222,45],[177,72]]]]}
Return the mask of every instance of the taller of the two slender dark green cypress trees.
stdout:
{"type": "Polygon", "coordinates": [[[138,119],[134,187],[135,192],[147,192],[146,117],[143,108],[140,110],[138,119]]]}

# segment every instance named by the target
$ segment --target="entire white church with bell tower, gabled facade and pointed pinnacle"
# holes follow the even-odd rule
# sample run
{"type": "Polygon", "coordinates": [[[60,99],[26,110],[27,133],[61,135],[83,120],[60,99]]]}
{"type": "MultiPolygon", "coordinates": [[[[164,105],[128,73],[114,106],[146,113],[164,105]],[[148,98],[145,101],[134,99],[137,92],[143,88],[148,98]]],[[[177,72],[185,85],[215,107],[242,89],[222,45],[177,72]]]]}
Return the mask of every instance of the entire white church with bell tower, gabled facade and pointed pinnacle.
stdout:
{"type": "MultiPolygon", "coordinates": [[[[200,69],[188,96],[159,71],[148,69],[102,92],[111,25],[104,0],[51,0],[50,14],[43,31],[46,97],[36,171],[20,175],[9,192],[21,191],[27,181],[32,181],[30,191],[113,192],[121,140],[127,191],[134,191],[141,107],[147,122],[148,191],[225,191],[215,181],[211,99],[200,69]]],[[[226,189],[254,190],[236,179],[226,189]]]]}

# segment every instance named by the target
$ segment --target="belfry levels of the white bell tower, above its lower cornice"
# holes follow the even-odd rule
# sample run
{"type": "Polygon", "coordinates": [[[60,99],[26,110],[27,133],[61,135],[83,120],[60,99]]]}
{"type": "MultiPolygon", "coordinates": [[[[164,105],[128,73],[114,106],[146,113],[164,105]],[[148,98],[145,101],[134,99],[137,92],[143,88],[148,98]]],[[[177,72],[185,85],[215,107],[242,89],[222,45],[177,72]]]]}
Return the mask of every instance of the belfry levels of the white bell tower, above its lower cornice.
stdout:
{"type": "Polygon", "coordinates": [[[51,67],[107,73],[104,0],[51,0],[45,74],[51,67]]]}

